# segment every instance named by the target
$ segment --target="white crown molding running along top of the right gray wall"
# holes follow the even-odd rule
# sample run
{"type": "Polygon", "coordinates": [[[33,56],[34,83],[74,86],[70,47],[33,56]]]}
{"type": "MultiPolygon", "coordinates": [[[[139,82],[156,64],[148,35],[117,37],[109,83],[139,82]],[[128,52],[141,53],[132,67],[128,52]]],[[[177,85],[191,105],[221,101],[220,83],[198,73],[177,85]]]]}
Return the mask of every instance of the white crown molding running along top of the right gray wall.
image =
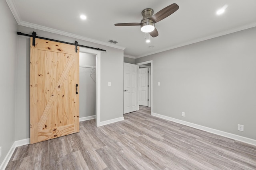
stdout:
{"type": "Polygon", "coordinates": [[[168,50],[171,50],[171,49],[176,49],[178,47],[183,47],[183,46],[186,46],[186,45],[198,43],[200,41],[205,41],[205,40],[208,40],[208,39],[220,37],[220,36],[227,35],[227,34],[230,34],[230,33],[235,33],[235,32],[242,31],[244,29],[249,29],[249,28],[252,28],[252,27],[256,27],[256,22],[253,22],[253,23],[250,23],[250,24],[247,24],[247,25],[243,25],[243,26],[240,26],[240,27],[236,27],[236,28],[233,28],[233,29],[228,29],[226,31],[222,31],[222,32],[212,34],[212,35],[209,35],[209,36],[206,36],[206,37],[202,37],[202,38],[199,38],[199,39],[195,39],[195,40],[192,40],[192,41],[187,41],[185,43],[174,45],[172,47],[168,47],[168,48],[161,49],[161,50],[158,50],[158,51],[154,51],[152,53],[147,53],[147,54],[144,54],[144,55],[140,55],[140,56],[136,57],[136,59],[138,59],[140,57],[145,57],[145,56],[148,56],[148,55],[153,55],[153,54],[156,54],[156,53],[161,53],[161,52],[168,51],[168,50]]]}

